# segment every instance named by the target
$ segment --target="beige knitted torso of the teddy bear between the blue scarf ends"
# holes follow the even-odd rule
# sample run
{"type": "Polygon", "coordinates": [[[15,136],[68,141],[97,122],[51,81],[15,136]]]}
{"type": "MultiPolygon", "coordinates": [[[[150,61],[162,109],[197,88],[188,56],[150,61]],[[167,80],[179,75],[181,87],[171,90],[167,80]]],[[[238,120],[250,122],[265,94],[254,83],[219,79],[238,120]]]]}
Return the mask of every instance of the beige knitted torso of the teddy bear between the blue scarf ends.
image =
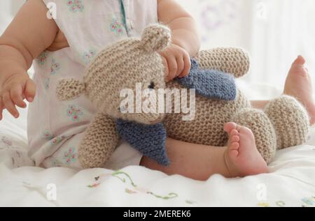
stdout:
{"type": "MultiPolygon", "coordinates": [[[[169,82],[169,89],[183,88],[177,82],[169,82]]],[[[188,93],[189,94],[189,93],[188,93]]],[[[172,114],[165,117],[165,127],[167,135],[174,139],[193,144],[204,144],[212,146],[225,146],[228,142],[228,135],[224,132],[223,126],[230,122],[232,115],[240,109],[251,107],[241,91],[237,91],[237,97],[232,101],[216,100],[196,95],[195,99],[195,119],[193,121],[183,121],[186,114],[176,114],[174,109],[178,108],[178,103],[172,100],[172,114]]],[[[190,100],[188,99],[188,107],[190,100]]]]}

